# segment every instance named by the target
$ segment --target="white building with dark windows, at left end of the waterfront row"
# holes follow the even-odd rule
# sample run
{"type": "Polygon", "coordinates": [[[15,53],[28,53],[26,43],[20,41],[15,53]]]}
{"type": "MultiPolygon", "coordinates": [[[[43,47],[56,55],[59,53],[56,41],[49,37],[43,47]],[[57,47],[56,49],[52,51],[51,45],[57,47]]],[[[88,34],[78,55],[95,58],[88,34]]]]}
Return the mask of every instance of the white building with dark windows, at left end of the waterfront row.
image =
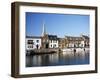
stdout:
{"type": "Polygon", "coordinates": [[[26,50],[40,49],[41,48],[41,37],[26,37],[26,50]]]}

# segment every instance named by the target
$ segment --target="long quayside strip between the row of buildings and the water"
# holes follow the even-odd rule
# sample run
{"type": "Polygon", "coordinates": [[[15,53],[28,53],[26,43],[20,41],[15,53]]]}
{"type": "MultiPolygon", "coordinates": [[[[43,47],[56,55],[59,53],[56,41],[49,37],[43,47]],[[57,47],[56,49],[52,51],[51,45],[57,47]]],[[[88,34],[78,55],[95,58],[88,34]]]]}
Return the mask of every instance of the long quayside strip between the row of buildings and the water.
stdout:
{"type": "Polygon", "coordinates": [[[49,49],[34,49],[27,50],[26,55],[40,55],[40,54],[53,54],[53,53],[61,53],[61,52],[87,52],[89,48],[49,48],[49,49]]]}

